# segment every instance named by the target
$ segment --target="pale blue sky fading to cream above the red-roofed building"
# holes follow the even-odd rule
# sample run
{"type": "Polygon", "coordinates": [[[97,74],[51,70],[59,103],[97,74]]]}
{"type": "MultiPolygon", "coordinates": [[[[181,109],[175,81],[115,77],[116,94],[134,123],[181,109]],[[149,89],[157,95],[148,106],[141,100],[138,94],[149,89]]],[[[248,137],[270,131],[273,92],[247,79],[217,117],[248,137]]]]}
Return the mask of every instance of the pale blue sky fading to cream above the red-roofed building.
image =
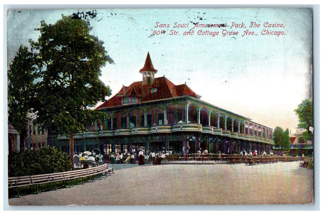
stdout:
{"type": "MultiPolygon", "coordinates": [[[[8,11],[7,65],[20,44],[28,46],[29,38],[37,39],[39,33],[34,29],[41,20],[54,24],[62,14],[93,9],[8,11]]],[[[176,85],[186,82],[207,103],[295,133],[298,118],[294,110],[302,100],[312,98],[310,9],[100,8],[96,13],[95,18],[86,19],[93,27],[90,34],[104,42],[114,60],[102,68],[101,76],[112,96],[122,85],[142,80],[139,70],[149,52],[158,70],[155,77],[165,75],[176,85]],[[225,27],[199,27],[197,22],[225,27]],[[183,35],[186,32],[194,33],[183,35]]]]}

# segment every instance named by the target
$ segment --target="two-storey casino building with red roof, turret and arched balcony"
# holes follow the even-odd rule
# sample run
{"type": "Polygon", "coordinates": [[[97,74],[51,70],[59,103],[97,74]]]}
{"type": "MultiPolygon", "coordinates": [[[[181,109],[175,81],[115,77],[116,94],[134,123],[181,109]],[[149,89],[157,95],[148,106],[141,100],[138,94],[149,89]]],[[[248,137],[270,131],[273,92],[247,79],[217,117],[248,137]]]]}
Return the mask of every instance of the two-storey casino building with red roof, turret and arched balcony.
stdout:
{"type": "MultiPolygon", "coordinates": [[[[200,100],[186,83],[175,85],[165,76],[155,77],[149,53],[139,72],[142,80],[120,91],[96,109],[109,114],[104,122],[88,126],[75,135],[75,151],[98,148],[101,153],[130,152],[139,146],[147,151],[231,153],[273,148],[273,129],[251,119],[200,100]]],[[[58,136],[62,151],[68,138],[58,136]]],[[[51,142],[51,141],[49,141],[51,142]]],[[[54,143],[56,142],[56,143],[54,143]]]]}

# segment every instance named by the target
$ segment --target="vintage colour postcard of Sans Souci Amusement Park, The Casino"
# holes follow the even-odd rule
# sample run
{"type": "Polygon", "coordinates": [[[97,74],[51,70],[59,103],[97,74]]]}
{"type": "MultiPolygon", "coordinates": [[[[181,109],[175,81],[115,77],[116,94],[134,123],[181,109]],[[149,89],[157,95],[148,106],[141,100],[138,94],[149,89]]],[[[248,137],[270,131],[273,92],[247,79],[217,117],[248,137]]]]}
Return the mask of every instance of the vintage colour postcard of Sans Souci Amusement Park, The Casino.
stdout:
{"type": "Polygon", "coordinates": [[[8,10],[8,205],[313,204],[312,13],[8,10]]]}

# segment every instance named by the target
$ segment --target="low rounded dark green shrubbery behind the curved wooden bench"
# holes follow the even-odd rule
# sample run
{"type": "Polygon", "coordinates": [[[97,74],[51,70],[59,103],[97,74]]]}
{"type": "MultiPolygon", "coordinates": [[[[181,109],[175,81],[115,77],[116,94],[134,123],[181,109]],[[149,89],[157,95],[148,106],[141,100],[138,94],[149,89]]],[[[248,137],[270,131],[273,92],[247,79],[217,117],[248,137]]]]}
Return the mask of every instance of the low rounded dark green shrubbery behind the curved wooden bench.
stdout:
{"type": "Polygon", "coordinates": [[[14,151],[8,155],[8,177],[71,171],[67,153],[48,146],[34,151],[14,151]]]}

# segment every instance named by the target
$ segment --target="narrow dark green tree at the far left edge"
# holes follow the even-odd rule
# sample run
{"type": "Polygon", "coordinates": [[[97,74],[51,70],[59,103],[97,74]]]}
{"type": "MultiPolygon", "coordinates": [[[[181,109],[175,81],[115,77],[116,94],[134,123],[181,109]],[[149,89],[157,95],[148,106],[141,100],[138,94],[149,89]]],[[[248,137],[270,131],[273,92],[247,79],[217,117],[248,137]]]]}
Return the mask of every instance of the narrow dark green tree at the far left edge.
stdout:
{"type": "Polygon", "coordinates": [[[8,119],[20,135],[21,151],[24,150],[28,123],[31,120],[36,78],[33,54],[21,45],[8,70],[8,119]]]}

